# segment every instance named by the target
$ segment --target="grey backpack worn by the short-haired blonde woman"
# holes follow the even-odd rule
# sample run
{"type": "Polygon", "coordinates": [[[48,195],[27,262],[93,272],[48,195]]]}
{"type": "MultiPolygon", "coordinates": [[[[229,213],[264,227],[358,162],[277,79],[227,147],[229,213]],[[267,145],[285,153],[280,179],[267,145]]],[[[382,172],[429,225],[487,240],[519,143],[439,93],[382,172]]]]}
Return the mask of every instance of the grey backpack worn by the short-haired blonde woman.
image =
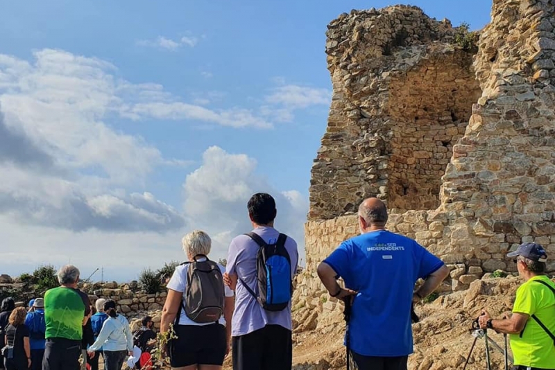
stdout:
{"type": "MultiPolygon", "coordinates": [[[[185,310],[187,317],[199,324],[218,322],[223,314],[225,297],[220,267],[206,256],[198,255],[194,259],[194,262],[183,263],[189,267],[180,310],[185,310]],[[205,261],[197,261],[200,258],[205,258],[205,261]]],[[[178,320],[180,315],[181,312],[178,312],[178,320]]]]}

